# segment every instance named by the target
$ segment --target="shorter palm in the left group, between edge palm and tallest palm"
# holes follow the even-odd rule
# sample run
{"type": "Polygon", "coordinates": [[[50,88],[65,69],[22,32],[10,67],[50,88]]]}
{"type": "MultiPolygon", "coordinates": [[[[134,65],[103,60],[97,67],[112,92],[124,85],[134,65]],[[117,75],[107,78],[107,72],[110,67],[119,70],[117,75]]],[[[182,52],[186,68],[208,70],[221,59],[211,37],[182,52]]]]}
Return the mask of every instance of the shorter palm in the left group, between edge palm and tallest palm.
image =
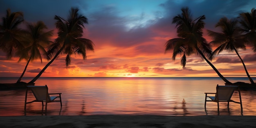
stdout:
{"type": "Polygon", "coordinates": [[[52,43],[49,38],[52,36],[53,30],[45,32],[45,29],[47,29],[47,27],[43,21],[38,21],[36,24],[27,25],[26,41],[30,45],[19,53],[19,62],[22,59],[28,59],[28,61],[17,83],[21,81],[30,61],[34,61],[39,58],[42,63],[41,53],[46,56],[47,52],[45,50],[45,47],[52,43]]]}

